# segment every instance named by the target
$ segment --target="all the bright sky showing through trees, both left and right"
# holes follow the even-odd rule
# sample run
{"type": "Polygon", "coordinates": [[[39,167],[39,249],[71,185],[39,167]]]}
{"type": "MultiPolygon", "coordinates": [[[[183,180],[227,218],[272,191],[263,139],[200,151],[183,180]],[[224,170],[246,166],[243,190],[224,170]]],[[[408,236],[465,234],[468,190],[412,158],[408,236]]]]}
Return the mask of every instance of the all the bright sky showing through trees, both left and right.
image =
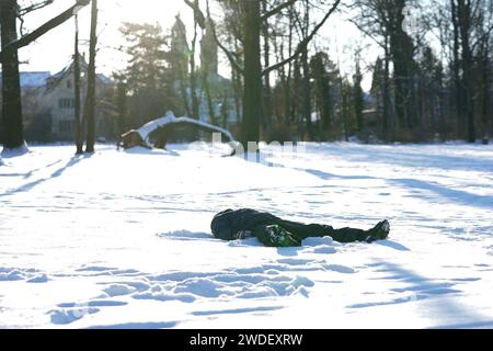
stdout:
{"type": "MultiPolygon", "coordinates": [[[[24,2],[34,0],[24,0],[24,2]]],[[[21,2],[21,1],[20,1],[21,2]]],[[[30,14],[25,19],[25,32],[36,29],[54,15],[68,9],[74,0],[56,0],[54,4],[30,14]]],[[[118,27],[123,22],[159,23],[164,30],[174,23],[174,16],[180,12],[185,23],[191,23],[192,11],[182,0],[100,0],[99,19],[99,57],[98,71],[111,75],[115,69],[125,66],[125,56],[117,48],[124,43],[118,27]]],[[[90,7],[84,8],[79,15],[81,30],[81,50],[87,50],[89,38],[90,7]]],[[[69,20],[59,27],[53,30],[36,43],[21,49],[23,71],[51,71],[61,70],[71,60],[73,53],[74,21],[69,20]]],[[[190,33],[188,33],[190,34],[190,33]]],[[[352,72],[354,69],[352,45],[359,43],[360,34],[354,25],[342,21],[340,16],[330,20],[321,31],[317,39],[318,49],[330,52],[334,61],[341,63],[343,71],[352,72]]],[[[363,43],[365,44],[365,43],[363,43]]],[[[369,49],[363,55],[364,64],[375,61],[378,52],[369,49]]],[[[225,60],[225,58],[222,58],[225,60]]],[[[227,65],[221,65],[221,73],[229,76],[227,65]]],[[[368,77],[369,78],[369,77],[368,77]]],[[[365,81],[365,89],[370,84],[365,81]]]]}

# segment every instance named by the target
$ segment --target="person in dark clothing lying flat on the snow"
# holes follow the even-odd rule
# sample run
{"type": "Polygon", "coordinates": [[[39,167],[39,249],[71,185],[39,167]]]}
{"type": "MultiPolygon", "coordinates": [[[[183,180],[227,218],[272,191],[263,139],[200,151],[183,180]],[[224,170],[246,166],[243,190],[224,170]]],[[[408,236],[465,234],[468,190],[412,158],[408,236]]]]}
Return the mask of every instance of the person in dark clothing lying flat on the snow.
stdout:
{"type": "Polygon", "coordinates": [[[255,210],[226,210],[218,213],[210,224],[213,235],[222,240],[240,240],[256,237],[267,247],[300,247],[310,237],[332,237],[337,242],[374,242],[389,237],[390,224],[382,220],[369,230],[328,225],[302,224],[285,220],[270,213],[255,210]]]}

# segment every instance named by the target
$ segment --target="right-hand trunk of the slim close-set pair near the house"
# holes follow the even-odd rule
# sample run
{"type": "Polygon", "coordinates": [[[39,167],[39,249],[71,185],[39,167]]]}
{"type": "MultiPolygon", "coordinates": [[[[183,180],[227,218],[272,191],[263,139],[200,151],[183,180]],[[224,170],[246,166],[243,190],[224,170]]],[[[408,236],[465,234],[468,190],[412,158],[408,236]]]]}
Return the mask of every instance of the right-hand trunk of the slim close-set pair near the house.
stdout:
{"type": "Polygon", "coordinates": [[[88,95],[85,97],[84,120],[88,123],[85,152],[94,152],[95,144],[95,56],[98,44],[98,0],[92,0],[91,37],[89,44],[88,95]]]}

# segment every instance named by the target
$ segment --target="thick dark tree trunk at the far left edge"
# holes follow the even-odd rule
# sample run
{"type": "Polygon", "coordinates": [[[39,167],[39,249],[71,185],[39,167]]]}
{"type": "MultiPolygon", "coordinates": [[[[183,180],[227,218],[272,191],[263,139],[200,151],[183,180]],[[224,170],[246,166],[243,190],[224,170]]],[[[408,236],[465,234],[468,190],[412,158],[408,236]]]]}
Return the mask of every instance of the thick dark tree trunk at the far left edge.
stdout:
{"type": "Polygon", "coordinates": [[[18,50],[4,50],[8,44],[18,39],[16,15],[18,1],[2,0],[0,24],[2,52],[4,52],[2,57],[2,127],[4,149],[15,149],[24,146],[18,50]]]}

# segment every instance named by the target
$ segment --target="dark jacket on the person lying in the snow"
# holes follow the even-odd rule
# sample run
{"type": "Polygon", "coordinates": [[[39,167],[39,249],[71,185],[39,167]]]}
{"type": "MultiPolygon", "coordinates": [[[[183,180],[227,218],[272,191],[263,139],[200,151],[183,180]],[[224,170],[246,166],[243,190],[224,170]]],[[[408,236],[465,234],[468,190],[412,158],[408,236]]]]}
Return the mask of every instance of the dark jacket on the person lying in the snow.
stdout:
{"type": "Polygon", "coordinates": [[[210,229],[216,238],[222,240],[234,240],[239,231],[253,231],[259,225],[282,224],[283,219],[270,213],[255,210],[226,210],[218,213],[210,224],[210,229]]]}

